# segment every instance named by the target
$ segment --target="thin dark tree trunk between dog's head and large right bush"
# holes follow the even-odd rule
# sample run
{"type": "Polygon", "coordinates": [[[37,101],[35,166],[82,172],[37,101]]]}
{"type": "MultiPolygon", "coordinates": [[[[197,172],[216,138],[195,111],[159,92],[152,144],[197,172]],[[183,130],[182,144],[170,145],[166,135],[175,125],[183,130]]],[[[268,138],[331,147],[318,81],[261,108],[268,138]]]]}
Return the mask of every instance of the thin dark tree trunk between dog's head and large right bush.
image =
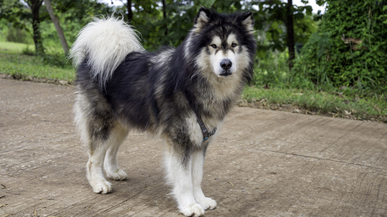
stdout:
{"type": "Polygon", "coordinates": [[[294,53],[294,27],[293,27],[293,2],[292,0],[288,0],[288,3],[286,5],[286,32],[287,37],[286,41],[288,44],[288,50],[289,50],[289,70],[293,67],[293,60],[295,58],[294,53]]]}

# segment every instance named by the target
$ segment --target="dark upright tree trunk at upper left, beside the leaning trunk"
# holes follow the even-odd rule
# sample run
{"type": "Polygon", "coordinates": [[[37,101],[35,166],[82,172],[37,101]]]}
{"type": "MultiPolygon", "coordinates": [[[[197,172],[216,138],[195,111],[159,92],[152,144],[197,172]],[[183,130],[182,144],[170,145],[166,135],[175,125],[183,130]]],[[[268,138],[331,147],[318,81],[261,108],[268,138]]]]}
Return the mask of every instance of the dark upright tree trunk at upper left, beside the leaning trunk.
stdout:
{"type": "Polygon", "coordinates": [[[40,19],[39,19],[39,8],[42,5],[42,0],[29,0],[26,1],[31,8],[32,12],[32,30],[33,39],[35,43],[35,53],[37,55],[44,54],[42,36],[40,35],[40,19]]]}

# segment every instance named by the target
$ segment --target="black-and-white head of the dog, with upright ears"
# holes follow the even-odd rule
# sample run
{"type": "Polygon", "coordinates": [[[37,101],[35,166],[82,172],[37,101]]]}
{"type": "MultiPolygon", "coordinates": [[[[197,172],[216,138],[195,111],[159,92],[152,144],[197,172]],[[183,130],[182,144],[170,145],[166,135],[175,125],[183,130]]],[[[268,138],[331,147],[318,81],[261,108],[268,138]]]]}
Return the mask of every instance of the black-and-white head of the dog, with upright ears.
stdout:
{"type": "Polygon", "coordinates": [[[192,30],[200,40],[191,42],[200,45],[196,64],[217,77],[240,73],[255,54],[253,26],[251,12],[224,15],[202,7],[192,30]]]}

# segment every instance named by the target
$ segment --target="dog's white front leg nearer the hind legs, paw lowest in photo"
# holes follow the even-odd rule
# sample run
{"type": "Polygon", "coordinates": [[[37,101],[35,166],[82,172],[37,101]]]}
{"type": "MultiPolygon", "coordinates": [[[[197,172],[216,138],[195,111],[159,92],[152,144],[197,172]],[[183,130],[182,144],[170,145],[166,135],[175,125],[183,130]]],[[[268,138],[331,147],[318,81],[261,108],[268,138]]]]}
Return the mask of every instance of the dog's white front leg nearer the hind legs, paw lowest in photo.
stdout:
{"type": "Polygon", "coordinates": [[[199,217],[204,214],[204,209],[194,199],[192,156],[179,145],[168,145],[165,167],[168,182],[173,186],[172,194],[178,203],[178,208],[185,216],[199,217]]]}

